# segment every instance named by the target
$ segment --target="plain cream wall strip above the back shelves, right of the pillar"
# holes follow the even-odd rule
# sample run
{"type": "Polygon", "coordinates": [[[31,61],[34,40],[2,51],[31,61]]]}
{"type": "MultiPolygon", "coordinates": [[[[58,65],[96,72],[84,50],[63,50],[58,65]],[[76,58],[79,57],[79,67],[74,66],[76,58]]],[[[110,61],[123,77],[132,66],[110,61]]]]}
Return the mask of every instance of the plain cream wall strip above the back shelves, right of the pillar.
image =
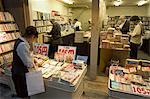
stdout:
{"type": "Polygon", "coordinates": [[[148,6],[108,7],[108,16],[147,16],[148,6]]]}

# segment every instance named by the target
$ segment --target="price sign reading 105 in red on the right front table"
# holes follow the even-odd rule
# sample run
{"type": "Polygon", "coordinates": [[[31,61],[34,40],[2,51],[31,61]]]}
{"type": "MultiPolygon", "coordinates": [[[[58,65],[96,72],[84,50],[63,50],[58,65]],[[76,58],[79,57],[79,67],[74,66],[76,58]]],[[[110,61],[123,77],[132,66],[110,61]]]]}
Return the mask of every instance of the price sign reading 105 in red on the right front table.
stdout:
{"type": "Polygon", "coordinates": [[[141,86],[132,85],[132,92],[139,95],[150,96],[150,89],[141,86]]]}

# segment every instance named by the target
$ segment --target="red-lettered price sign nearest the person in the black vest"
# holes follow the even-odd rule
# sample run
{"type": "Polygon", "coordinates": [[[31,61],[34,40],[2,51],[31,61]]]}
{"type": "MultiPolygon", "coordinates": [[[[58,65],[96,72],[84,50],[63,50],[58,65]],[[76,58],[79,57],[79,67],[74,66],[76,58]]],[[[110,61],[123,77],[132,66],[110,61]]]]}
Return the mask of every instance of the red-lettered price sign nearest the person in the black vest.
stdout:
{"type": "Polygon", "coordinates": [[[49,44],[34,43],[33,50],[35,53],[48,56],[49,44]]]}

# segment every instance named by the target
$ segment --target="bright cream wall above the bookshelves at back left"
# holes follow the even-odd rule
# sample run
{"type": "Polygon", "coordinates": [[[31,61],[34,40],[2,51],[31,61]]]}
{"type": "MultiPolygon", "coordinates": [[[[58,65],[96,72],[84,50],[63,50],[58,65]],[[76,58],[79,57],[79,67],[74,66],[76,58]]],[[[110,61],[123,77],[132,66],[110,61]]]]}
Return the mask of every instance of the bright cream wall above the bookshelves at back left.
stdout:
{"type": "MultiPolygon", "coordinates": [[[[34,25],[34,11],[50,14],[52,10],[58,11],[62,16],[66,16],[69,9],[63,3],[57,0],[29,0],[30,25],[34,25]]],[[[66,17],[65,20],[67,20],[66,17]]]]}

